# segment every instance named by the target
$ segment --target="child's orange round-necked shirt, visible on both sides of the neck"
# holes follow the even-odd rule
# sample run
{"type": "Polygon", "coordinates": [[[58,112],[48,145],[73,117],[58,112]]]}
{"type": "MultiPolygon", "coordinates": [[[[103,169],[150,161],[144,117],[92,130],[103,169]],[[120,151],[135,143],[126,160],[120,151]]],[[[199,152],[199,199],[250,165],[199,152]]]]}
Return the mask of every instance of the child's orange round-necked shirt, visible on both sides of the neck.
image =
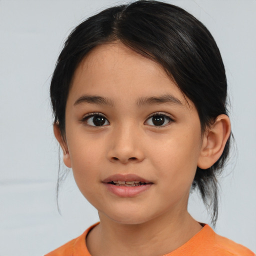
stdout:
{"type": "MultiPolygon", "coordinates": [[[[95,226],[85,230],[77,238],[65,243],[45,256],[91,256],[87,250],[85,237],[95,226]]],[[[255,254],[241,244],[233,242],[216,234],[205,224],[203,228],[182,246],[163,256],[255,256],[255,254]]]]}

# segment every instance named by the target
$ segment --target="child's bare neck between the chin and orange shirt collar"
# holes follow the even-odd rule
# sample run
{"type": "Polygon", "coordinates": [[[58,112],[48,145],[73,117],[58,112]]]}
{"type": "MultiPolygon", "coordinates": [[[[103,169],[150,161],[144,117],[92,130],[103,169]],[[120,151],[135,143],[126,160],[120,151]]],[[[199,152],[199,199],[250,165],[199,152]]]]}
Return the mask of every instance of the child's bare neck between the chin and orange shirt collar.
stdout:
{"type": "Polygon", "coordinates": [[[171,218],[159,216],[141,224],[117,223],[105,215],[91,230],[86,244],[92,256],[97,255],[163,255],[188,241],[201,226],[187,211],[171,218]]]}

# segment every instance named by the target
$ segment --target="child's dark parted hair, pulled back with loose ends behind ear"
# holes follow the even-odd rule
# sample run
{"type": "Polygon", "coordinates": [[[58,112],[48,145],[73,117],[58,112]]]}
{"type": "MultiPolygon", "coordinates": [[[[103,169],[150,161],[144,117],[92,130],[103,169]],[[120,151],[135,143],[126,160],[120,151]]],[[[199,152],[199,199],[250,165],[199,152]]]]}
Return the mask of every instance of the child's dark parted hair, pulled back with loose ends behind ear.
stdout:
{"type": "MultiPolygon", "coordinates": [[[[65,41],[50,85],[54,122],[65,132],[65,106],[74,71],[96,45],[120,41],[162,65],[195,105],[202,132],[226,110],[226,76],[220,52],[207,28],[177,6],[139,0],[107,8],[76,26],[65,41]]],[[[215,224],[218,210],[216,176],[226,161],[230,137],[220,158],[208,169],[197,167],[197,187],[215,224]]]]}

